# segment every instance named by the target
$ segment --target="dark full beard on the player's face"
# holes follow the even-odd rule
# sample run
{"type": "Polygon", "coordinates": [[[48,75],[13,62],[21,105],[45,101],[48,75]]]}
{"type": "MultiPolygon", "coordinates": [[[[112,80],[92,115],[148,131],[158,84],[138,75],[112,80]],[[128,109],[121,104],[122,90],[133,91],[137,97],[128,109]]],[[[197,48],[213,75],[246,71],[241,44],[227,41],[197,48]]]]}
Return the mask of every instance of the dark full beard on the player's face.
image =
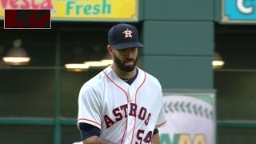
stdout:
{"type": "Polygon", "coordinates": [[[124,60],[124,62],[121,61],[120,58],[118,58],[115,54],[114,54],[114,62],[118,65],[119,69],[125,72],[131,72],[132,70],[134,70],[136,64],[138,61],[138,57],[136,59],[134,58],[126,58],[126,60],[124,60]],[[132,66],[125,66],[123,63],[127,62],[127,61],[132,61],[134,62],[134,65],[132,66]]]}

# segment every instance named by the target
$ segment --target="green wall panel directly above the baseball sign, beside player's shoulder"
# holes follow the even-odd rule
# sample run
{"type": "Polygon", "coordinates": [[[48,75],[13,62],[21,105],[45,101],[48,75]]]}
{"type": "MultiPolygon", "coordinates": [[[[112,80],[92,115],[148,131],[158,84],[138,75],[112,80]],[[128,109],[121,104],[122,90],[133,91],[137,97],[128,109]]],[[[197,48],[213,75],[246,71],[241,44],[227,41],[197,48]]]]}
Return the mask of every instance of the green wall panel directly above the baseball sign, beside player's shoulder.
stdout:
{"type": "Polygon", "coordinates": [[[211,58],[143,56],[144,69],[168,89],[211,89],[211,58]]]}

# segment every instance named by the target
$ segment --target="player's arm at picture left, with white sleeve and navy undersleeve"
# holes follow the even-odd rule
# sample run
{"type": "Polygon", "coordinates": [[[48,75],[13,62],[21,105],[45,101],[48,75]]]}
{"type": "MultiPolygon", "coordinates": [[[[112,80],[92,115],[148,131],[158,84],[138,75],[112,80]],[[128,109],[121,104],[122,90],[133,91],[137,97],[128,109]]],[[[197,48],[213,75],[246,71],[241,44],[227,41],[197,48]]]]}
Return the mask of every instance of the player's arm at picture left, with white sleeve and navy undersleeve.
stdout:
{"type": "Polygon", "coordinates": [[[101,134],[101,98],[94,87],[84,85],[78,96],[78,127],[83,144],[114,144],[101,134]]]}

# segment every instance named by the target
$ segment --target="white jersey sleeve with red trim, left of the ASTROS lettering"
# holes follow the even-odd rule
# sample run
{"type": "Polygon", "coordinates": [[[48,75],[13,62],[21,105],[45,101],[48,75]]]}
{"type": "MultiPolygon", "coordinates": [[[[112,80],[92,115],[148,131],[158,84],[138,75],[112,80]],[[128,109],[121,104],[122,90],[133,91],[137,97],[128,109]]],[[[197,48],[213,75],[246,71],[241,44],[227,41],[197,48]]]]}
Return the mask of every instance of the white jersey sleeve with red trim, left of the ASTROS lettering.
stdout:
{"type": "Polygon", "coordinates": [[[78,127],[83,122],[101,129],[100,107],[97,91],[91,86],[82,86],[78,96],[78,127]]]}

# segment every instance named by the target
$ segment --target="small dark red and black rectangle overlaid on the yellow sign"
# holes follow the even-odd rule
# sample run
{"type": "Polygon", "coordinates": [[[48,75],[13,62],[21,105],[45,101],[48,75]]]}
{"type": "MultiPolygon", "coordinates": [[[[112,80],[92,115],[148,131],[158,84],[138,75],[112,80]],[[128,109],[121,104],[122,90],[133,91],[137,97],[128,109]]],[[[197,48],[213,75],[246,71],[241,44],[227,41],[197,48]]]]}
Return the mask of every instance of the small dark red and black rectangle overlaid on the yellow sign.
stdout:
{"type": "Polygon", "coordinates": [[[5,10],[5,29],[50,29],[50,10],[5,10]]]}

